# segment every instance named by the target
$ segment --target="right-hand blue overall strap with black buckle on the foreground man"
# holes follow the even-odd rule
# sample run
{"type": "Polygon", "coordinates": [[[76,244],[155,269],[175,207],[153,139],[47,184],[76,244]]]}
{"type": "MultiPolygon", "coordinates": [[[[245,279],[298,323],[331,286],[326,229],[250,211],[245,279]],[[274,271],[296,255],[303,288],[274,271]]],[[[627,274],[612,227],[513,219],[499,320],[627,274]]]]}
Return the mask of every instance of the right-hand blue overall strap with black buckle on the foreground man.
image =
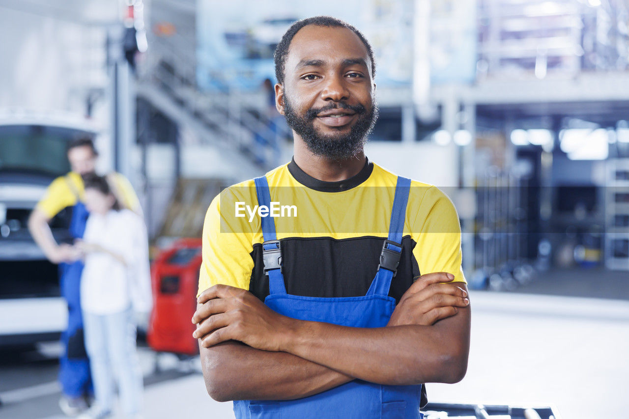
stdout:
{"type": "Polygon", "coordinates": [[[402,253],[402,235],[404,234],[404,220],[406,219],[406,204],[411,189],[411,179],[398,176],[389,221],[389,237],[382,244],[380,264],[374,281],[371,282],[367,295],[389,295],[391,279],[395,276],[402,253]]]}

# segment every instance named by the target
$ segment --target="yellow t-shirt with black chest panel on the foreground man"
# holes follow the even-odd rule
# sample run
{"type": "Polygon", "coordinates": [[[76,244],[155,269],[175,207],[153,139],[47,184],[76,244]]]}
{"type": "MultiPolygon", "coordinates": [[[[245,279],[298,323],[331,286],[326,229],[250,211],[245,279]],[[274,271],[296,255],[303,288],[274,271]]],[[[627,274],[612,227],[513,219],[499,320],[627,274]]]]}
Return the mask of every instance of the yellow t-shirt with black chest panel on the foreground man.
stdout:
{"type": "MultiPolygon", "coordinates": [[[[293,160],[266,177],[271,201],[278,203],[274,215],[279,216],[272,220],[282,247],[287,292],[311,297],[365,295],[389,231],[397,176],[367,161],[350,179],[323,182],[308,176],[293,160]]],[[[203,226],[199,294],[214,284],[248,289],[260,299],[269,294],[255,205],[253,180],[228,187],[213,199],[203,226]]],[[[390,296],[399,300],[414,279],[429,272],[450,272],[454,281],[465,282],[459,217],[437,187],[411,182],[403,236],[390,296]]]]}

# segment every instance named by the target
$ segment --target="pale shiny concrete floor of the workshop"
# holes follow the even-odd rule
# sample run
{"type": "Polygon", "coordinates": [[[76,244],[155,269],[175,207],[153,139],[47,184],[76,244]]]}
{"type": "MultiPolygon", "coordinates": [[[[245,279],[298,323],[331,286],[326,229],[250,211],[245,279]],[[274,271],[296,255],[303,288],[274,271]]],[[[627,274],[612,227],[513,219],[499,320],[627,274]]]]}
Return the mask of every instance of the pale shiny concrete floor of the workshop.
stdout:
{"type": "MultiPolygon", "coordinates": [[[[517,292],[472,291],[467,376],[457,384],[428,384],[428,398],[554,405],[568,419],[628,418],[625,279],[618,272],[601,276],[596,271],[565,272],[554,279],[549,272],[517,292]],[[589,286],[592,277],[605,286],[589,286]],[[546,294],[570,290],[599,298],[532,294],[545,288],[546,294]]],[[[141,348],[140,359],[146,377],[145,417],[233,418],[231,403],[217,403],[207,395],[198,360],[192,369],[183,368],[165,355],[160,360],[164,371],[156,373],[150,350],[141,348]]],[[[18,360],[0,365],[0,399],[5,402],[0,418],[64,417],[57,406],[55,361],[18,360]]]]}

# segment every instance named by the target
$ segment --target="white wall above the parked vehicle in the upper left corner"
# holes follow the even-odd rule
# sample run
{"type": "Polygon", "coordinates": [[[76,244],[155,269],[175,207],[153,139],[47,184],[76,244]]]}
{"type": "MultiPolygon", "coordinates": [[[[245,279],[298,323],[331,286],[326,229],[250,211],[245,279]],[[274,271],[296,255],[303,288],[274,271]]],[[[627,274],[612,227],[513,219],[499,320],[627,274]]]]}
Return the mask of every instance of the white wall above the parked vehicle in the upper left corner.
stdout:
{"type": "Polygon", "coordinates": [[[0,3],[0,108],[84,113],[84,87],[103,82],[104,28],[117,1],[0,3]],[[93,71],[96,70],[96,73],[93,71]]]}

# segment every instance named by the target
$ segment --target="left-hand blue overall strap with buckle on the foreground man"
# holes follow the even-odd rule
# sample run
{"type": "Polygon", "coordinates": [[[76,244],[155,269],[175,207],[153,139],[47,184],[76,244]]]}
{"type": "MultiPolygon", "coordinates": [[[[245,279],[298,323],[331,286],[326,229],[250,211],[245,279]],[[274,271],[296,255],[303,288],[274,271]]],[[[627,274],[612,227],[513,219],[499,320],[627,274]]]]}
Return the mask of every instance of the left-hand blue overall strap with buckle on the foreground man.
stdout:
{"type": "MultiPolygon", "coordinates": [[[[258,205],[270,207],[271,196],[269,193],[269,183],[266,176],[253,179],[255,182],[255,193],[258,196],[258,205]]],[[[264,273],[269,276],[270,294],[286,294],[284,286],[284,275],[282,275],[282,249],[277,240],[275,220],[270,215],[260,217],[262,220],[262,260],[264,262],[264,273]]]]}

